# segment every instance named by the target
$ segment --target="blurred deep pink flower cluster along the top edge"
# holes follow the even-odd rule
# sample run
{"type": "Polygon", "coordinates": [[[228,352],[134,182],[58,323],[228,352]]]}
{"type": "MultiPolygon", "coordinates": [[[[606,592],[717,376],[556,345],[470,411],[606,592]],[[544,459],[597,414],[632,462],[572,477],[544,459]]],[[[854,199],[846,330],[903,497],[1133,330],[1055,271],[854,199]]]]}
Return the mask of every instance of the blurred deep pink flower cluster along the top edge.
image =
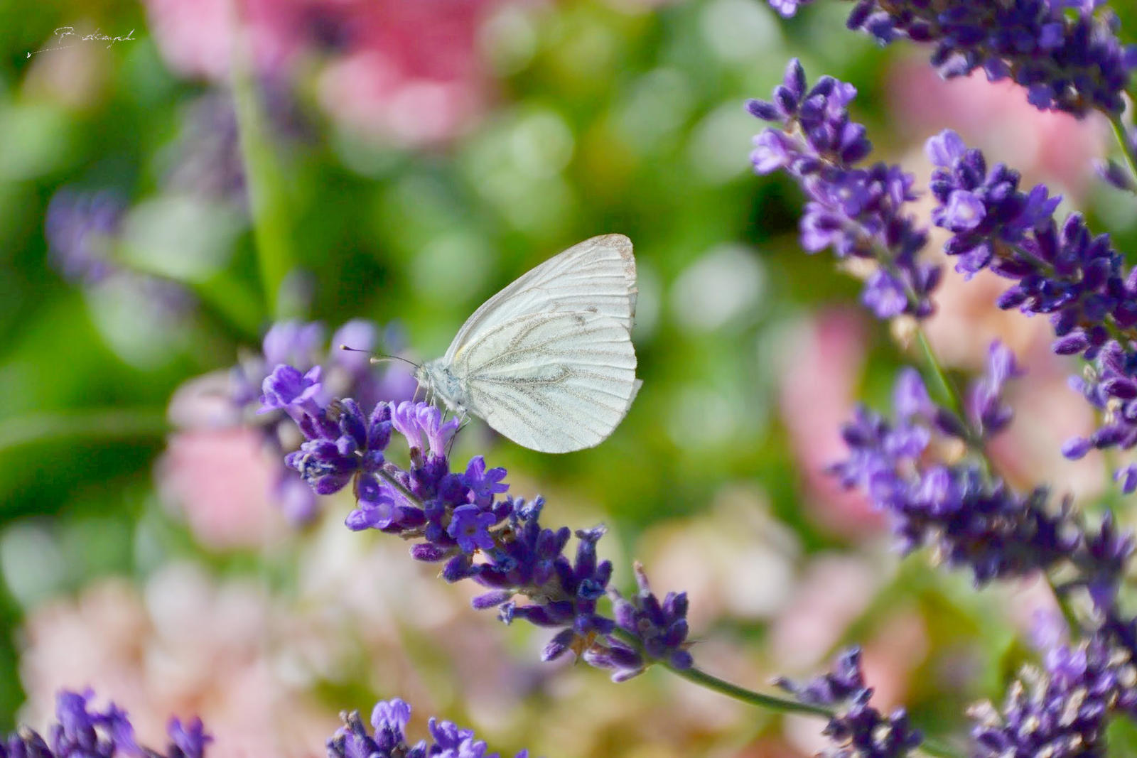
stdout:
{"type": "Polygon", "coordinates": [[[227,77],[234,16],[263,76],[288,78],[299,58],[321,58],[321,106],[365,136],[408,147],[446,141],[489,97],[478,32],[495,0],[146,2],[163,56],[185,76],[227,77]]]}

